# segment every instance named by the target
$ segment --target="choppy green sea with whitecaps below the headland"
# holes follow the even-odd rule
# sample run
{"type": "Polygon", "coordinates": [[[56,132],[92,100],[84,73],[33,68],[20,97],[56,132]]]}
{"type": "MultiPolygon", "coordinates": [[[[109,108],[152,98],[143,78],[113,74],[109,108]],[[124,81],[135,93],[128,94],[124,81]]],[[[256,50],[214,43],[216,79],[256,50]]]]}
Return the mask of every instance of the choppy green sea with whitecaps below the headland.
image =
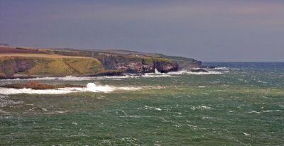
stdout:
{"type": "Polygon", "coordinates": [[[0,145],[284,145],[284,62],[205,64],[218,68],[0,88],[0,145]]]}

